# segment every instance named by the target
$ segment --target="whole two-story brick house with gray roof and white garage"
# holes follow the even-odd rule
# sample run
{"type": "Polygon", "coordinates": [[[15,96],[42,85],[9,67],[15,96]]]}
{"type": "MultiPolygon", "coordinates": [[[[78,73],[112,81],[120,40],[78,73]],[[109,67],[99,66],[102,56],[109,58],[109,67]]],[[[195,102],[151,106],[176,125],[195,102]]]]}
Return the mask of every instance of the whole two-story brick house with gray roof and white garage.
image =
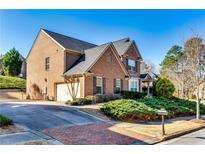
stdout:
{"type": "Polygon", "coordinates": [[[129,38],[95,45],[41,29],[27,56],[27,97],[57,101],[140,91],[142,57],[129,38]]]}

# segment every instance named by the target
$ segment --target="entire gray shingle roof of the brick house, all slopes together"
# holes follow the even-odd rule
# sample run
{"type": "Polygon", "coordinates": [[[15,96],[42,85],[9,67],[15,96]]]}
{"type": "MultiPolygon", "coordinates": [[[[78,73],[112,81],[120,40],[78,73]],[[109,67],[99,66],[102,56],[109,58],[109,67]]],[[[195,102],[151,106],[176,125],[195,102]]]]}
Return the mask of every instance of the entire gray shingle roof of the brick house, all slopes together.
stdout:
{"type": "Polygon", "coordinates": [[[130,45],[134,42],[131,41],[129,38],[124,38],[118,41],[114,41],[112,43],[106,43],[97,46],[95,44],[88,43],[55,32],[51,32],[46,29],[42,30],[47,33],[51,38],[53,38],[56,42],[62,45],[65,49],[71,49],[82,53],[80,59],[77,60],[73,64],[73,66],[64,73],[64,75],[85,73],[86,71],[88,71],[89,67],[92,66],[92,64],[99,58],[103,51],[111,44],[113,44],[119,55],[123,55],[130,47],[130,45]]]}

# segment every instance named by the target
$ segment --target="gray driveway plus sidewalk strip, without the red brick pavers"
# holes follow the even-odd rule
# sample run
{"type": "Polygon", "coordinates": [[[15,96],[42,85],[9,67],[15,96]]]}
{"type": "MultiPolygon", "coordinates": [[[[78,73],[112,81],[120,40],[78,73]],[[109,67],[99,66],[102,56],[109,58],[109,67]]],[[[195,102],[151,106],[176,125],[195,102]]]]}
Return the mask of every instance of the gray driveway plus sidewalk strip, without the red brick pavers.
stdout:
{"type": "Polygon", "coordinates": [[[63,144],[52,136],[43,133],[45,129],[64,128],[87,124],[98,124],[101,119],[81,112],[73,107],[62,105],[44,105],[39,102],[0,103],[0,114],[14,121],[24,131],[0,135],[1,144],[27,144],[32,141],[47,144],[63,144]]]}

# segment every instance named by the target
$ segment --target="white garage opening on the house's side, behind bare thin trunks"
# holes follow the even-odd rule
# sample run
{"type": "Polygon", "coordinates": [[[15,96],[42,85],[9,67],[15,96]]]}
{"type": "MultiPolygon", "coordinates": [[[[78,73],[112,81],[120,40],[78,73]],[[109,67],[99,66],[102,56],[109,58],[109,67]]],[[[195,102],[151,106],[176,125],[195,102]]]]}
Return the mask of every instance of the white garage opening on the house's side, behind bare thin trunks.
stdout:
{"type": "Polygon", "coordinates": [[[72,100],[71,94],[76,95],[76,98],[80,98],[80,84],[73,83],[66,84],[60,83],[56,85],[56,98],[57,101],[65,102],[68,100],[72,100]]]}

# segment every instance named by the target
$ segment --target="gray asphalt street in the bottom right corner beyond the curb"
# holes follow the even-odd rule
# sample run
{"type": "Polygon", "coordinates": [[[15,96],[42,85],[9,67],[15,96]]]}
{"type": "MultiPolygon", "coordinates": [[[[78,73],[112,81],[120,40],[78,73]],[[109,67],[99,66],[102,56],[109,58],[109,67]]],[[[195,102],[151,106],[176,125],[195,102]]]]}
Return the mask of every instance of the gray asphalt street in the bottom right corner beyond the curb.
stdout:
{"type": "Polygon", "coordinates": [[[165,145],[205,145],[205,129],[190,133],[169,141],[162,142],[165,145]]]}

